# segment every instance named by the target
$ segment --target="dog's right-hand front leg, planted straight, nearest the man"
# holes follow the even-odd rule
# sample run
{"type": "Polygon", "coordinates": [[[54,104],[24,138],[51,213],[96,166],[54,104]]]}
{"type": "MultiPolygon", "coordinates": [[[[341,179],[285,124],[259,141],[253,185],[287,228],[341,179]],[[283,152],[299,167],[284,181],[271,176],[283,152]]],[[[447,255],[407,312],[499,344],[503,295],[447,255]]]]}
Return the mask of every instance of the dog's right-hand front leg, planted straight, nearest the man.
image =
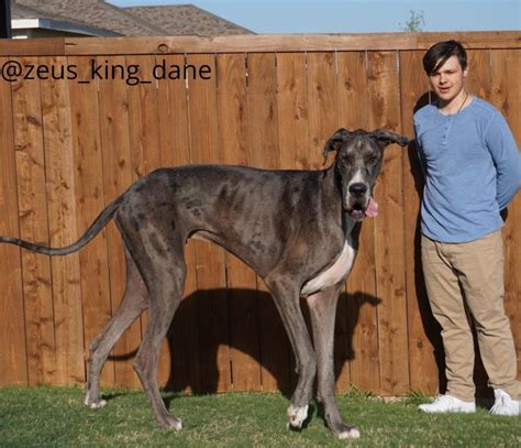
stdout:
{"type": "Polygon", "coordinates": [[[334,396],[334,324],[336,303],[343,285],[342,282],[308,297],[314,349],[317,350],[319,400],[324,406],[328,426],[342,439],[359,437],[356,427],[347,426],[342,420],[334,396]]]}

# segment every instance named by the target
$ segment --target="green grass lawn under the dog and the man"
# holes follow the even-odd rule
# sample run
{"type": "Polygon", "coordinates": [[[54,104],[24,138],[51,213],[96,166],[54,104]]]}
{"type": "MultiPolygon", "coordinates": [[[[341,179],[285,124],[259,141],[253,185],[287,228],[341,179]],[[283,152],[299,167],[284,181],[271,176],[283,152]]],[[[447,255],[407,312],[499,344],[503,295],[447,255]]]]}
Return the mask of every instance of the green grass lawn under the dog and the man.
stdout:
{"type": "Polygon", "coordinates": [[[521,447],[521,417],[424,415],[421,396],[385,403],[352,393],[339,396],[342,415],[362,437],[335,439],[320,408],[301,431],[286,428],[288,401],[278,394],[229,393],[181,396],[165,393],[182,419],[179,433],[156,426],[142,392],[111,390],[107,406],[89,409],[78,387],[0,389],[0,446],[220,446],[220,447],[521,447]]]}

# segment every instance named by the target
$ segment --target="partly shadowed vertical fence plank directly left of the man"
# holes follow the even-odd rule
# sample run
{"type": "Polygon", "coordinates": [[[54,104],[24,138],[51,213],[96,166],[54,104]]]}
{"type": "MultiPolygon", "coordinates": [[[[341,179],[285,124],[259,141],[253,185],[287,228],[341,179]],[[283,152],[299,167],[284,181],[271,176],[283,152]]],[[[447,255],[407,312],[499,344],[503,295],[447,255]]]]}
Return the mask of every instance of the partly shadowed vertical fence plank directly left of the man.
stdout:
{"type": "MultiPolygon", "coordinates": [[[[413,138],[412,116],[428,103],[429,80],[423,75],[423,52],[400,52],[400,100],[403,133],[413,138]]],[[[434,394],[439,386],[440,328],[432,316],[423,282],[420,248],[420,201],[423,174],[418,149],[411,143],[403,155],[403,210],[406,240],[406,286],[409,331],[409,372],[413,390],[434,394]]],[[[441,361],[441,360],[440,360],[441,361]]]]}

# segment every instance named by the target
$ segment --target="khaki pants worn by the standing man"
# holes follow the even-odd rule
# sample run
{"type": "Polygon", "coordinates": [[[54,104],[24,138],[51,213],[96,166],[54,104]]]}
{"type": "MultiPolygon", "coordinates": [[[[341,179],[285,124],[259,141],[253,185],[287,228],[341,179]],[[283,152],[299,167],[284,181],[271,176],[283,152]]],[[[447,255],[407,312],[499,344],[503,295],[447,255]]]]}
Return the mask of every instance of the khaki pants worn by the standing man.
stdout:
{"type": "Polygon", "coordinates": [[[447,393],[474,401],[474,318],[479,352],[491,387],[521,397],[510,321],[503,305],[503,249],[496,231],[468,243],[441,243],[422,236],[423,275],[432,313],[442,327],[447,393]]]}

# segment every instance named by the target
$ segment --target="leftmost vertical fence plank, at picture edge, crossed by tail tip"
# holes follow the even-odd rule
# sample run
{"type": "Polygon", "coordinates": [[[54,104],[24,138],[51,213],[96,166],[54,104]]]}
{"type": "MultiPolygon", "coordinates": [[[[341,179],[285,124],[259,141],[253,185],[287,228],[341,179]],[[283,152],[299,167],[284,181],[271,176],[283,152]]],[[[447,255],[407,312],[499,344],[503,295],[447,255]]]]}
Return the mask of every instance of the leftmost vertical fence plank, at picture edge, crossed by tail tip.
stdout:
{"type": "MultiPolygon", "coordinates": [[[[7,63],[0,57],[0,64],[7,63]]],[[[11,85],[0,81],[0,234],[19,237],[16,161],[11,85]]],[[[21,250],[0,244],[0,385],[29,381],[21,250]]]]}

